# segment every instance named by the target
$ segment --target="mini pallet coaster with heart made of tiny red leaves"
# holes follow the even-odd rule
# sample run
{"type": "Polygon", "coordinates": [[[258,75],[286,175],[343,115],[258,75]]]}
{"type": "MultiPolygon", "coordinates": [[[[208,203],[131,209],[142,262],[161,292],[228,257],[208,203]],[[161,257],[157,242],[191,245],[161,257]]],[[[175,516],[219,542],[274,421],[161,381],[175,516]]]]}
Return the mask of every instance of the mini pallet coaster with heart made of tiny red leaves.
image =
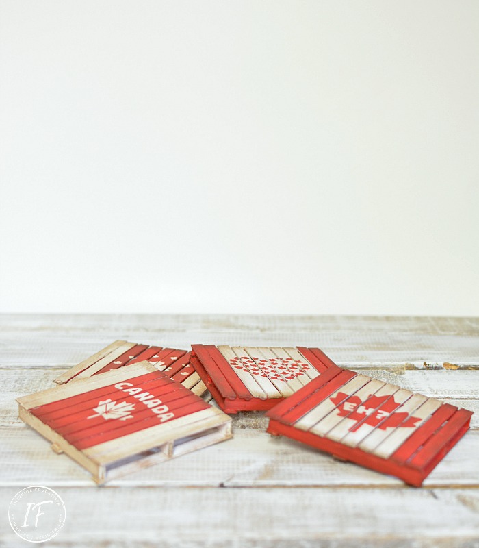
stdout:
{"type": "Polygon", "coordinates": [[[334,363],[318,348],[192,345],[191,362],[227,413],[267,410],[334,363]]]}

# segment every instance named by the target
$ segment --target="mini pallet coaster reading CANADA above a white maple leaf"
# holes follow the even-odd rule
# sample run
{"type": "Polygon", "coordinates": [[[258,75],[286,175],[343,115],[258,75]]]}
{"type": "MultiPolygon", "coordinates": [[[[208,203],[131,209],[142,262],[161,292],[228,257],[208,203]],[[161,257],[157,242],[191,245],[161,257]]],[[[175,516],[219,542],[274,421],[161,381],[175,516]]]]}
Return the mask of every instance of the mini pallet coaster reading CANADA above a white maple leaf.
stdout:
{"type": "Polygon", "coordinates": [[[231,438],[231,417],[148,362],[17,401],[20,418],[99,484],[231,438]]]}

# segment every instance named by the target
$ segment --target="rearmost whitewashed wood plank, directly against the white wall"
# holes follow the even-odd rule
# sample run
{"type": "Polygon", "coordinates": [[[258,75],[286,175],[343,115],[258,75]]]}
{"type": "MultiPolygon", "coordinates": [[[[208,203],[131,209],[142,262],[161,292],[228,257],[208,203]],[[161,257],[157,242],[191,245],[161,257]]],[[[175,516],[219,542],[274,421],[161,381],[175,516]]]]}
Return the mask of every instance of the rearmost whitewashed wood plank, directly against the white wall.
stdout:
{"type": "Polygon", "coordinates": [[[174,348],[319,346],[341,366],[479,367],[478,319],[341,316],[0,316],[0,366],[73,366],[115,338],[174,348]],[[248,325],[250,327],[248,327],[248,325]]]}

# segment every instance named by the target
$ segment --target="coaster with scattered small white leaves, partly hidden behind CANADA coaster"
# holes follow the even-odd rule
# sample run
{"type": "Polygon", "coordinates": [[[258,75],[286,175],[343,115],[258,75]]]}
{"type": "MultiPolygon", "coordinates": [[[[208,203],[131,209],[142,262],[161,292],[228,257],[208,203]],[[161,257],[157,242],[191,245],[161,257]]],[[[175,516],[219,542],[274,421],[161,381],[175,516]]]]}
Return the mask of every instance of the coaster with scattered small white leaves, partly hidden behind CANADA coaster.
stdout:
{"type": "Polygon", "coordinates": [[[146,360],[156,366],[159,371],[164,371],[168,377],[192,390],[194,394],[206,397],[206,386],[190,364],[190,356],[191,352],[186,350],[138,345],[137,343],[128,343],[126,340],[116,340],[90,358],[86,358],[83,362],[68,369],[60,377],[57,377],[55,382],[65,384],[72,380],[92,377],[146,360]]]}

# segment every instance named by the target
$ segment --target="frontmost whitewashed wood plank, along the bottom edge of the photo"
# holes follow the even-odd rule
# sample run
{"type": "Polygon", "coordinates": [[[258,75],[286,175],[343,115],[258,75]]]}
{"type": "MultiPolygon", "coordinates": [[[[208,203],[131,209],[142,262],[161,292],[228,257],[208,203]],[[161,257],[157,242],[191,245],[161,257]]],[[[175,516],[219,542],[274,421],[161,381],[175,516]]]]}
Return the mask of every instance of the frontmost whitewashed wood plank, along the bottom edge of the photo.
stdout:
{"type": "MultiPolygon", "coordinates": [[[[285,497],[268,488],[57,491],[67,519],[49,546],[118,546],[121,539],[128,547],[445,548],[473,547],[478,532],[477,489],[296,488],[285,497]]],[[[3,490],[1,507],[14,495],[3,490]]],[[[9,547],[25,545],[5,529],[9,547]]]]}

